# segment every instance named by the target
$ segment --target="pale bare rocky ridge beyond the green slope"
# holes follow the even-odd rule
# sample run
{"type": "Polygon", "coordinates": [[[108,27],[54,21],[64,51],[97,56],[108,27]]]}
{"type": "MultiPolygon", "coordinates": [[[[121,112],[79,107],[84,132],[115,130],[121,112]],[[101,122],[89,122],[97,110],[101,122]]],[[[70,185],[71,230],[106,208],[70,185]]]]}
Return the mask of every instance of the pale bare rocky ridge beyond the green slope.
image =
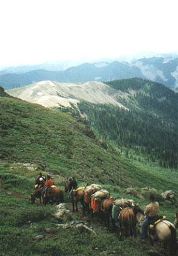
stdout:
{"type": "Polygon", "coordinates": [[[123,92],[118,92],[102,82],[85,83],[58,83],[52,81],[41,81],[23,88],[7,90],[17,98],[32,103],[38,103],[45,107],[77,108],[77,103],[86,101],[98,104],[112,104],[127,109],[117,101],[120,97],[126,97],[123,92]]]}

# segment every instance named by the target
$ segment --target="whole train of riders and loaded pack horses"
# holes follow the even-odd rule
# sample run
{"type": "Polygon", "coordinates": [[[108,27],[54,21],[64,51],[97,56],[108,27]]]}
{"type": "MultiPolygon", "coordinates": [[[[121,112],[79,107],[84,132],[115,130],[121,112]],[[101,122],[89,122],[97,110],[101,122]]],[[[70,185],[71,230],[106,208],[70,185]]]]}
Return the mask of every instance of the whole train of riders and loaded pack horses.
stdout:
{"type": "MultiPolygon", "coordinates": [[[[155,202],[154,195],[149,195],[150,204],[142,210],[139,203],[131,199],[114,200],[110,192],[99,184],[78,187],[74,177],[66,180],[64,191],[69,194],[73,212],[78,212],[77,203],[82,205],[82,214],[87,212],[91,217],[97,216],[102,223],[120,237],[137,237],[141,235],[142,242],[161,241],[164,248],[169,249],[170,256],[177,255],[176,227],[178,227],[178,213],[175,223],[171,223],[165,216],[159,216],[159,204],[155,202]]],[[[53,184],[49,175],[47,178],[39,173],[35,184],[35,192],[31,193],[31,203],[39,199],[40,205],[64,203],[63,189],[53,184]],[[42,201],[41,201],[42,199],[42,201]]]]}

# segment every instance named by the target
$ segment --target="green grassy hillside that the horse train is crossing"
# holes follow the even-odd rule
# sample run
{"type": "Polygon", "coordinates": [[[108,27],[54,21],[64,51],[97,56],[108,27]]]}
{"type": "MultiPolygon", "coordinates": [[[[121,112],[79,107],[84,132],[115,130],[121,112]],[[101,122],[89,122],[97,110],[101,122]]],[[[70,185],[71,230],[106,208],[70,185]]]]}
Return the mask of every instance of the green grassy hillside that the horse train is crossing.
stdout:
{"type": "MultiPolygon", "coordinates": [[[[73,218],[91,225],[97,236],[75,228],[64,230],[52,217],[54,206],[30,205],[29,196],[39,169],[50,173],[58,186],[75,175],[79,185],[98,182],[114,198],[128,197],[147,204],[147,195],[127,195],[125,188],[177,189],[176,171],[150,166],[106,150],[86,124],[72,115],[50,110],[13,98],[0,97],[0,253],[6,256],[30,255],[167,255],[162,248],[151,249],[140,239],[120,241],[103,229],[98,220],[73,218]],[[23,163],[38,166],[27,168],[23,163]],[[48,232],[46,228],[52,228],[48,232]],[[41,240],[37,235],[44,235],[41,240]],[[69,246],[70,245],[70,246],[69,246]],[[153,251],[152,251],[153,250],[153,251]]],[[[65,200],[68,199],[65,195],[65,200]]],[[[173,221],[176,209],[163,208],[173,221]]]]}

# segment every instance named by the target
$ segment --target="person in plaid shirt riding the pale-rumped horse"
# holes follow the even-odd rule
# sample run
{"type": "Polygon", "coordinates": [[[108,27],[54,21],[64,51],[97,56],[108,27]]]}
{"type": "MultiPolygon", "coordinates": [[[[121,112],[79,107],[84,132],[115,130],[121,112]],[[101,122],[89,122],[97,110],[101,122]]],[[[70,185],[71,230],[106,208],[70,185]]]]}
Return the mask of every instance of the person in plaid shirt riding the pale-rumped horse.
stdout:
{"type": "Polygon", "coordinates": [[[150,204],[146,206],[144,214],[145,219],[142,224],[142,238],[148,239],[148,226],[152,223],[153,219],[159,215],[159,204],[154,201],[154,195],[149,196],[150,204]]]}

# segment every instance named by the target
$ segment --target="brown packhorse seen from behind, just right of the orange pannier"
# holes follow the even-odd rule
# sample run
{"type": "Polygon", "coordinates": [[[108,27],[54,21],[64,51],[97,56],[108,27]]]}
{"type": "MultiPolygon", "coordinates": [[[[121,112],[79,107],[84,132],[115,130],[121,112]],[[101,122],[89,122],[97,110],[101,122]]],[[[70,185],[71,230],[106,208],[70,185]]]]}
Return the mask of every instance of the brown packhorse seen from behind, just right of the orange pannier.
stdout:
{"type": "Polygon", "coordinates": [[[104,220],[104,225],[109,228],[109,221],[111,217],[112,208],[114,205],[113,198],[102,200],[101,202],[101,213],[102,213],[102,220],[104,220]]]}

